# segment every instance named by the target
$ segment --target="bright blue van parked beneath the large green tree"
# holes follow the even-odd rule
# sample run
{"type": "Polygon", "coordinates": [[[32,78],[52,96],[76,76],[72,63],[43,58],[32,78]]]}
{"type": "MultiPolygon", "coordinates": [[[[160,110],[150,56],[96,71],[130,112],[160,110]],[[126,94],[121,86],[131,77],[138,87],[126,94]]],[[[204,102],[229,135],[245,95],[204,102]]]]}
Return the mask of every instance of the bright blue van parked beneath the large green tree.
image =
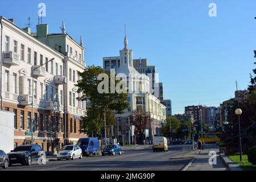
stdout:
{"type": "Polygon", "coordinates": [[[99,150],[98,138],[80,138],[77,145],[81,148],[84,156],[96,155],[99,150]]]}

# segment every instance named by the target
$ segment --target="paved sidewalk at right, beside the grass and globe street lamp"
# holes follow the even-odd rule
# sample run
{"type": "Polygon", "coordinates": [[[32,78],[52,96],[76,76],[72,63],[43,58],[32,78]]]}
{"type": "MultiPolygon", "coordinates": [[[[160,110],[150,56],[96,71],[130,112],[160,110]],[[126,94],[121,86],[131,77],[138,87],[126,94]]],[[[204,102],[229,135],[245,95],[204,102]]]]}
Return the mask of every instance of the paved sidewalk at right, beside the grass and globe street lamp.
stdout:
{"type": "Polygon", "coordinates": [[[218,148],[205,148],[199,154],[198,150],[188,152],[184,155],[175,156],[175,158],[192,158],[193,160],[189,163],[183,171],[228,171],[224,161],[220,158],[218,148]],[[208,155],[210,151],[217,152],[217,164],[210,165],[208,155]]]}

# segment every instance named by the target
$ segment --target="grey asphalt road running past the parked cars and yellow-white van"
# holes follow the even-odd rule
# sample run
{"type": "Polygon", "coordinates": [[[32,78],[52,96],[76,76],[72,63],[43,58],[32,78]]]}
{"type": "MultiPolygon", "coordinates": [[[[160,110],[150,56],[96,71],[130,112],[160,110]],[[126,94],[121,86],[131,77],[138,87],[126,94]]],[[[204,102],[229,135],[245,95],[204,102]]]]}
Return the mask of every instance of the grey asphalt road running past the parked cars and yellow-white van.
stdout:
{"type": "MultiPolygon", "coordinates": [[[[122,155],[88,156],[76,160],[49,161],[46,165],[11,166],[7,171],[179,171],[191,159],[171,159],[181,154],[182,146],[171,146],[168,152],[153,152],[152,148],[129,150],[122,155]]],[[[0,169],[2,171],[2,169],[0,169]]]]}

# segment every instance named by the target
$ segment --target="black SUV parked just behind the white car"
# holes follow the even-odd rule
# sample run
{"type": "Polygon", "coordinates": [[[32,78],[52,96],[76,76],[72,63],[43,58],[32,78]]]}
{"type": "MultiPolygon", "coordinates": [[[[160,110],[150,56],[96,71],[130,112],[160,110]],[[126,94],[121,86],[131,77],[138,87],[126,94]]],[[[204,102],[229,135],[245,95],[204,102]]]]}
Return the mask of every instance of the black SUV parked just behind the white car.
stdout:
{"type": "Polygon", "coordinates": [[[14,148],[9,154],[10,166],[11,164],[22,164],[30,166],[32,162],[44,155],[45,152],[38,144],[18,146],[14,148]]]}

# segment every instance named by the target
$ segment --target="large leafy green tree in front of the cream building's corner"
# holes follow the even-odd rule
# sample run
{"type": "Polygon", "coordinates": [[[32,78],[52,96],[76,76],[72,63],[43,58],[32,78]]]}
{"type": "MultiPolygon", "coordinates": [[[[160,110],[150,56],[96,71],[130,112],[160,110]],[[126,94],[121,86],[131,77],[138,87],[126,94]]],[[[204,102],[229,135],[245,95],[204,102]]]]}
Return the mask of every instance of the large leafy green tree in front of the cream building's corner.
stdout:
{"type": "MultiPolygon", "coordinates": [[[[95,67],[94,65],[86,67],[84,72],[79,72],[81,80],[76,84],[77,92],[81,93],[77,100],[86,100],[87,116],[82,117],[81,131],[88,135],[94,133],[99,136],[101,130],[104,129],[104,113],[106,113],[106,122],[109,122],[109,117],[112,117],[110,119],[112,121],[114,114],[122,114],[129,107],[126,93],[101,94],[98,92],[98,84],[101,82],[101,80],[98,80],[98,75],[101,73],[104,73],[101,67],[95,67]],[[113,112],[112,116],[110,110],[113,112]]],[[[110,76],[108,75],[108,77],[110,82],[110,76]]],[[[115,84],[117,83],[118,81],[115,81],[115,84]]]]}

